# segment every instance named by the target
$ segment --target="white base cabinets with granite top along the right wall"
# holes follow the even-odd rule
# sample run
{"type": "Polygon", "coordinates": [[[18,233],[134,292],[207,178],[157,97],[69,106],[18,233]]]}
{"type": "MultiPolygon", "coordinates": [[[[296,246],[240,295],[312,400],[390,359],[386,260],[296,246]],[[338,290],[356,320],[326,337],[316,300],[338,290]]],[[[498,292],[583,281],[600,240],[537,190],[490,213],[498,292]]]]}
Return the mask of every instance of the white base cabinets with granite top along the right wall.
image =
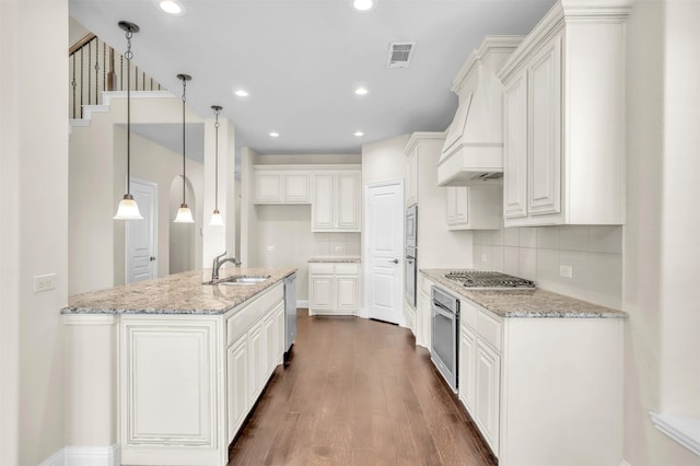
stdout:
{"type": "MultiPolygon", "coordinates": [[[[622,463],[622,354],[627,313],[541,289],[468,289],[422,269],[459,301],[458,397],[510,465],[622,463]]],[[[428,316],[424,316],[428,314],[428,316]]]]}

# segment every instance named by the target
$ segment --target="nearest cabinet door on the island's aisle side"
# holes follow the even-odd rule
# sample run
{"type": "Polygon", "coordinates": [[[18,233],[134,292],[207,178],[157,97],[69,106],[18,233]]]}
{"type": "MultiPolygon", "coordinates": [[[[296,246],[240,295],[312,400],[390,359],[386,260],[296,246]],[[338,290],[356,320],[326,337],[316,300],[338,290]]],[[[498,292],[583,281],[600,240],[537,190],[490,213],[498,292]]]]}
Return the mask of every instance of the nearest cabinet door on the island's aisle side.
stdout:
{"type": "Polygon", "coordinates": [[[248,412],[248,336],[243,335],[226,351],[229,394],[228,442],[235,436],[248,412]]]}

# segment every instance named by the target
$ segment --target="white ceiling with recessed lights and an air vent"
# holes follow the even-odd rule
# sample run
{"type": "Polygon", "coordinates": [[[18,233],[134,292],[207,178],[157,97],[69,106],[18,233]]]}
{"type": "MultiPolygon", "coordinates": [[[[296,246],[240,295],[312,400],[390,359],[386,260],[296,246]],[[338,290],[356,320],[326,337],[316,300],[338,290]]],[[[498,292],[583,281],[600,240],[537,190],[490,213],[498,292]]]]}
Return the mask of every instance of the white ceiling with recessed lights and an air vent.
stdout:
{"type": "Polygon", "coordinates": [[[311,154],[359,153],[368,142],[444,130],[457,105],[452,80],[481,38],[527,34],[555,0],[375,0],[369,12],[349,0],[180,2],[180,16],[156,0],[69,4],[117,50],[126,48],[117,22],[138,24],[133,62],[176,94],[176,74],[191,74],[188,105],[205,117],[222,105],[237,147],[311,154]],[[410,68],[386,68],[396,40],[417,43],[410,68]],[[368,95],[354,95],[360,84],[368,95]],[[238,88],[250,95],[235,96],[238,88]]]}

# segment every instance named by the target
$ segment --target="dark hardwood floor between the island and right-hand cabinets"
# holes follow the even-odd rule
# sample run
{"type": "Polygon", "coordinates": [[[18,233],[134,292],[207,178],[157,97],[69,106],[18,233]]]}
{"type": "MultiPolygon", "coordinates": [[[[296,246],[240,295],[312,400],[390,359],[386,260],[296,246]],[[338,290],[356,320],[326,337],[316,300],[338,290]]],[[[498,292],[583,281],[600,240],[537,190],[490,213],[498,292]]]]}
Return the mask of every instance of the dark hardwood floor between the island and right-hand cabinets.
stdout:
{"type": "Polygon", "coordinates": [[[233,465],[493,466],[410,330],[300,310],[278,366],[231,445],[233,465]]]}

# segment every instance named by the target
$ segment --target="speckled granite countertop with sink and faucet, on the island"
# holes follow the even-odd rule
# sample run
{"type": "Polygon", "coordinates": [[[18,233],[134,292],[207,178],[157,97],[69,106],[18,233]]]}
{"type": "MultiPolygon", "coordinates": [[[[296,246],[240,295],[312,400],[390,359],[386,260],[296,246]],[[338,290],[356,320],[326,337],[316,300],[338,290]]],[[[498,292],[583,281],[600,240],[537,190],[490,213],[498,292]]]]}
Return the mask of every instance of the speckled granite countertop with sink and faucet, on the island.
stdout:
{"type": "Polygon", "coordinates": [[[222,268],[220,279],[233,276],[270,276],[255,284],[202,284],[211,269],[191,270],[68,299],[61,314],[198,314],[219,315],[244,303],[296,271],[294,268],[222,268]]]}

